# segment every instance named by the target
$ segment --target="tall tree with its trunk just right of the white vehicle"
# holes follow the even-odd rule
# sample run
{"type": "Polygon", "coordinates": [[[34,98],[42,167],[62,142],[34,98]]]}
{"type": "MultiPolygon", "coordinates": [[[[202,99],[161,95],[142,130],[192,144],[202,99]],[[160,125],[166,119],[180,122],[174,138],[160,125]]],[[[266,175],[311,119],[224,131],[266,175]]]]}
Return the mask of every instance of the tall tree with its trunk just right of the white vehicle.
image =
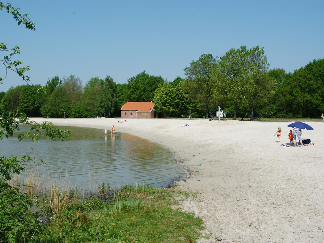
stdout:
{"type": "Polygon", "coordinates": [[[240,106],[248,104],[246,92],[249,81],[249,51],[246,46],[230,49],[220,58],[220,70],[223,82],[221,90],[226,94],[227,103],[233,107],[233,119],[236,119],[240,106]]]}

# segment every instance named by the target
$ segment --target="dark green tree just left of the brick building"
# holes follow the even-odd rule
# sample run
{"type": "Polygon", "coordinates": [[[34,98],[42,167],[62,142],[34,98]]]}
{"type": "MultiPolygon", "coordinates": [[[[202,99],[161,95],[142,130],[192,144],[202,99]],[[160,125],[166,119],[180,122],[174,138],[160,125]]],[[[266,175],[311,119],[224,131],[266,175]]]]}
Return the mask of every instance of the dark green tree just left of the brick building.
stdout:
{"type": "Polygon", "coordinates": [[[101,89],[98,92],[98,111],[108,117],[115,115],[117,109],[116,83],[110,76],[100,82],[101,89]]]}

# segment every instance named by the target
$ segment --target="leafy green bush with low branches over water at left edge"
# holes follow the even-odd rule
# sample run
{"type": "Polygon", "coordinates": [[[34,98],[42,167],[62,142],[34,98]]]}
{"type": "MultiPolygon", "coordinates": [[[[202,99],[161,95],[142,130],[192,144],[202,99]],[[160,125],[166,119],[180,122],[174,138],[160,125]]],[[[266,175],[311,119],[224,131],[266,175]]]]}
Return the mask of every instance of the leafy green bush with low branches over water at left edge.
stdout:
{"type": "MultiPolygon", "coordinates": [[[[64,140],[69,137],[69,130],[52,128],[52,123],[43,122],[38,124],[19,114],[19,117],[1,114],[0,119],[0,139],[12,137],[15,130],[19,130],[18,125],[23,123],[30,125],[30,129],[25,133],[20,133],[18,139],[30,138],[32,141],[39,140],[40,132],[49,136],[53,140],[64,140]]],[[[8,180],[14,174],[20,174],[25,170],[27,162],[34,161],[34,158],[25,155],[22,157],[10,156],[0,157],[0,242],[28,242],[36,232],[41,230],[37,214],[31,213],[29,207],[37,197],[30,197],[26,193],[21,193],[20,185],[11,186],[8,180]]]]}

